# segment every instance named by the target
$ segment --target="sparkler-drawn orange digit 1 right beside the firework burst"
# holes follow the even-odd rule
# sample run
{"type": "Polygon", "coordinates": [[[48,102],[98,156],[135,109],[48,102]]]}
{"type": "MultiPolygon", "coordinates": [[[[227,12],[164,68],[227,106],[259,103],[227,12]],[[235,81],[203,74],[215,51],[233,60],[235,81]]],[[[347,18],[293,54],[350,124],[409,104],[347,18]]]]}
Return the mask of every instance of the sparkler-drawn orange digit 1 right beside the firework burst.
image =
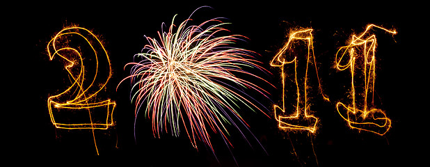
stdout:
{"type": "MultiPolygon", "coordinates": [[[[317,79],[319,82],[319,91],[321,95],[324,97],[324,100],[328,100],[328,97],[324,95],[321,88],[321,83],[319,81],[318,77],[318,69],[317,69],[317,63],[315,61],[314,56],[314,47],[312,45],[313,43],[313,36],[312,36],[312,29],[304,29],[301,31],[296,31],[289,35],[289,40],[285,44],[282,49],[276,54],[276,56],[271,61],[271,66],[273,67],[280,67],[282,69],[282,108],[278,105],[274,105],[273,108],[275,110],[275,118],[279,122],[279,127],[282,129],[300,129],[300,130],[308,130],[309,132],[314,133],[316,130],[318,118],[309,115],[310,110],[310,104],[308,103],[308,67],[313,63],[315,66],[315,70],[317,72],[317,79]],[[294,49],[292,45],[298,45],[299,41],[304,41],[307,43],[307,53],[306,55],[298,55],[295,54],[294,51],[289,51],[294,49]],[[286,54],[289,53],[288,55],[286,54]],[[287,56],[286,56],[287,55],[287,56]],[[305,76],[303,76],[303,84],[301,83],[302,77],[298,77],[298,66],[304,65],[301,57],[306,57],[306,70],[305,70],[305,76]],[[312,58],[313,57],[313,58],[312,58]],[[293,64],[294,63],[294,83],[296,84],[296,111],[291,116],[278,116],[278,112],[282,111],[282,113],[285,113],[286,107],[285,107],[285,100],[287,96],[285,95],[285,79],[289,77],[288,74],[285,72],[285,65],[286,64],[293,64]],[[303,93],[303,96],[302,94],[303,93]],[[304,116],[303,116],[304,115],[304,116]]],[[[293,80],[293,79],[292,79],[293,80]]],[[[289,97],[288,97],[289,98],[289,97]]]]}

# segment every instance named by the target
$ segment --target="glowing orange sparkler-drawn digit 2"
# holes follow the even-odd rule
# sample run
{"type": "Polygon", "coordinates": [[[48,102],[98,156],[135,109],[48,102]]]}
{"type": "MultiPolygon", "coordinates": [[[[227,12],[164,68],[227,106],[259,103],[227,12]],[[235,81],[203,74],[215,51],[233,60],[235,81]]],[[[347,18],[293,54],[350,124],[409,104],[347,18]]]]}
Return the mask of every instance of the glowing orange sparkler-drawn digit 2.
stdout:
{"type": "MultiPolygon", "coordinates": [[[[113,125],[112,113],[116,103],[109,99],[100,101],[100,96],[97,96],[112,74],[109,56],[97,36],[81,27],[65,28],[49,41],[47,51],[50,60],[56,55],[65,60],[65,70],[69,73],[72,83],[72,86],[63,93],[48,98],[49,116],[55,127],[92,129],[94,135],[94,129],[107,129],[113,125]],[[106,68],[102,68],[101,65],[105,65],[106,68]],[[86,67],[95,67],[95,69],[88,70],[86,67]],[[85,118],[76,120],[61,118],[67,113],[85,116],[85,118]],[[67,122],[58,122],[58,119],[67,122]]],[[[97,150],[97,145],[95,148],[97,150]]]]}

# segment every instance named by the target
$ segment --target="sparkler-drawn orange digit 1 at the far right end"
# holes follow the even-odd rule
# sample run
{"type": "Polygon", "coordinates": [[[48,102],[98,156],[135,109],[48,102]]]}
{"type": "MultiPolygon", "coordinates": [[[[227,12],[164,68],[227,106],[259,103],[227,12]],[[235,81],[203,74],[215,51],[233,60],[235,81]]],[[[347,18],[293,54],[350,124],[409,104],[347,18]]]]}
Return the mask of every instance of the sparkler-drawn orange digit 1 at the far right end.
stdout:
{"type": "Polygon", "coordinates": [[[376,35],[369,33],[372,28],[381,29],[392,34],[397,33],[395,30],[390,31],[381,26],[370,24],[361,35],[353,35],[348,46],[341,47],[337,51],[337,70],[347,70],[349,68],[351,72],[352,105],[347,106],[342,102],[337,102],[336,108],[340,116],[347,120],[349,127],[374,132],[382,136],[390,129],[391,120],[387,118],[385,112],[381,109],[374,109],[376,35]],[[358,61],[358,58],[360,58],[360,61],[358,61]],[[358,61],[357,65],[356,61],[358,61]],[[363,71],[356,72],[356,69],[363,71]],[[354,80],[357,74],[364,75],[364,77],[358,77],[364,79],[363,83],[358,79],[354,80]],[[361,93],[356,93],[356,88],[363,90],[363,97],[360,97],[361,93]],[[372,101],[370,102],[369,95],[372,96],[372,101]]]}

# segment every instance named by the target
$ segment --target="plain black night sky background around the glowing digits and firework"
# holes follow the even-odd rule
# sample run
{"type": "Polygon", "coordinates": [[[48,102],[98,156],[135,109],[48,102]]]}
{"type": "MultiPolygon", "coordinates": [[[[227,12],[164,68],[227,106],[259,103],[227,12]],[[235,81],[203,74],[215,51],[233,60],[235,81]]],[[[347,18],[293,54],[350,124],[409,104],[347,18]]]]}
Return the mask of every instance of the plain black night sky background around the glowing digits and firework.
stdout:
{"type": "MultiPolygon", "coordinates": [[[[6,67],[11,68],[6,70],[8,79],[5,81],[15,88],[11,89],[12,93],[6,90],[10,93],[10,101],[13,101],[10,104],[14,106],[8,109],[12,116],[3,118],[8,122],[6,129],[11,131],[11,135],[5,137],[10,142],[5,144],[12,157],[31,157],[40,164],[56,166],[82,162],[137,166],[235,166],[232,155],[239,166],[390,166],[399,162],[416,163],[420,158],[415,154],[425,147],[424,141],[427,140],[422,138],[426,134],[420,131],[422,122],[425,123],[421,120],[425,118],[421,115],[425,108],[420,107],[422,102],[417,100],[427,98],[420,97],[426,91],[420,89],[425,86],[420,81],[425,66],[417,65],[427,60],[420,58],[424,56],[420,52],[424,48],[417,44],[424,35],[424,24],[419,19],[421,13],[416,9],[420,4],[70,1],[19,6],[22,4],[13,5],[16,9],[13,13],[22,15],[6,18],[10,24],[3,32],[13,38],[8,44],[12,46],[8,58],[12,57],[14,63],[6,63],[6,67]],[[202,143],[198,144],[199,150],[195,150],[184,133],[179,138],[170,134],[154,138],[150,121],[143,116],[138,118],[135,140],[130,87],[123,84],[118,91],[115,90],[119,81],[128,74],[128,69],[123,70],[123,67],[148,44],[143,35],[156,37],[162,22],[170,24],[173,16],[178,14],[175,24],[179,24],[200,6],[211,6],[212,9],[198,10],[192,18],[225,17],[225,22],[232,23],[228,29],[233,34],[249,38],[238,45],[259,53],[259,61],[273,73],[266,75],[265,79],[278,89],[264,88],[271,93],[275,103],[280,102],[278,93],[282,85],[278,69],[270,67],[269,61],[284,45],[289,30],[299,27],[314,29],[319,74],[324,92],[331,97],[331,102],[313,101],[314,108],[318,110],[314,116],[321,120],[316,134],[309,136],[307,132],[278,129],[270,110],[273,102],[262,98],[257,100],[269,107],[266,113],[271,118],[260,112],[239,112],[266,152],[249,134],[252,147],[239,134],[232,133],[230,141],[234,148],[230,154],[218,134],[212,134],[217,161],[202,143]],[[49,61],[46,45],[63,26],[72,24],[99,35],[111,58],[113,78],[107,91],[117,103],[115,126],[108,130],[95,130],[99,156],[90,130],[55,129],[49,121],[47,98],[63,88],[63,80],[58,79],[61,77],[51,74],[63,68],[58,62],[49,61]],[[335,51],[344,46],[352,34],[363,32],[367,24],[398,32],[394,37],[377,33],[376,93],[381,102],[379,106],[392,120],[392,129],[385,136],[350,129],[335,109],[335,103],[345,98],[337,84],[337,79],[344,77],[345,73],[333,68],[335,51]]],[[[21,163],[32,163],[33,160],[21,163]]]]}

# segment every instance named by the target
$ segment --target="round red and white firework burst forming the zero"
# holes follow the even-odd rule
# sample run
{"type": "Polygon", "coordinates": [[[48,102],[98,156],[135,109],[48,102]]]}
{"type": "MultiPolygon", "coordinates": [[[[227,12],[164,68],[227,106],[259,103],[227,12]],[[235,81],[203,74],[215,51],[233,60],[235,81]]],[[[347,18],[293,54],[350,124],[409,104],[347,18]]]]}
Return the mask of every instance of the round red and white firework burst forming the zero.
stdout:
{"type": "MultiPolygon", "coordinates": [[[[122,81],[131,79],[135,114],[137,116],[143,108],[145,116],[152,120],[154,137],[159,138],[163,129],[178,136],[182,123],[194,148],[197,149],[196,141],[200,140],[214,152],[207,129],[219,133],[226,145],[231,145],[225,123],[237,129],[244,125],[248,129],[237,111],[239,104],[262,111],[248,100],[252,97],[242,89],[268,94],[248,79],[234,74],[262,79],[244,68],[264,68],[253,59],[253,51],[230,46],[244,36],[216,37],[228,32],[221,27],[228,23],[209,19],[198,26],[186,26],[191,20],[186,19],[174,31],[174,20],[175,17],[168,32],[158,32],[159,40],[146,37],[150,43],[143,48],[146,53],[135,55],[142,61],[125,65],[133,67],[130,76],[122,81]]],[[[239,132],[244,136],[240,129],[239,132]]]]}

